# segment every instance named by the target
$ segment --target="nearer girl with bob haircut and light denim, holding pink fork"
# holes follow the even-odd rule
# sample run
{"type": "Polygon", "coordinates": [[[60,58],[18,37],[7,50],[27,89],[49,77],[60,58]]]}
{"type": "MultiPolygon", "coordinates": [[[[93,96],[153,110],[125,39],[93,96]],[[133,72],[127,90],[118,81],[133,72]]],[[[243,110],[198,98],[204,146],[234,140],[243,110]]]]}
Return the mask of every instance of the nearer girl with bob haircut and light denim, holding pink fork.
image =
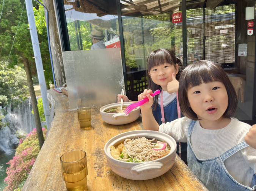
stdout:
{"type": "Polygon", "coordinates": [[[185,117],[158,125],[149,102],[141,106],[144,129],[188,143],[188,167],[210,191],[256,190],[256,149],[244,138],[250,125],[233,118],[237,96],[225,71],[211,61],[187,66],[179,79],[179,104],[185,117]]]}

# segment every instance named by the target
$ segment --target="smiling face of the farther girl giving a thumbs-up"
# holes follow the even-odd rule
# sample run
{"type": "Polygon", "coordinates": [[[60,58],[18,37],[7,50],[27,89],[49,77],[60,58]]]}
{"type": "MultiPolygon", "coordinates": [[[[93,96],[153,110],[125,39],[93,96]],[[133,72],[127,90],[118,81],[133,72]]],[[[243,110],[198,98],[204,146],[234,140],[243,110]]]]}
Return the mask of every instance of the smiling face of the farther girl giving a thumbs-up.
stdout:
{"type": "Polygon", "coordinates": [[[177,64],[174,67],[169,63],[164,63],[163,65],[151,68],[149,75],[155,84],[160,86],[167,86],[167,84],[173,80],[172,74],[177,74],[178,70],[179,66],[177,64]]]}

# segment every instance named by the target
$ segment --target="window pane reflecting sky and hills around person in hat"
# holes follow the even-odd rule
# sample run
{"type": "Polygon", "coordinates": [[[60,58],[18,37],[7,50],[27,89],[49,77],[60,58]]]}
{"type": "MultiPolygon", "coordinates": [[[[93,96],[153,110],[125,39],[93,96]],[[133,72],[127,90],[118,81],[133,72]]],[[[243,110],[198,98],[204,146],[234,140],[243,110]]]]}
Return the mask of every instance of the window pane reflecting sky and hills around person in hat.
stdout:
{"type": "MultiPolygon", "coordinates": [[[[100,43],[108,42],[119,37],[115,0],[94,2],[64,0],[71,51],[90,50],[93,43],[98,43],[101,40],[100,43]],[[94,34],[97,37],[93,42],[89,35],[91,35],[92,29],[96,28],[103,33],[104,39],[100,39],[102,35],[97,32],[94,34]],[[110,32],[111,28],[112,32],[110,32]]],[[[94,49],[95,47],[102,48],[102,45],[94,46],[94,49]]]]}

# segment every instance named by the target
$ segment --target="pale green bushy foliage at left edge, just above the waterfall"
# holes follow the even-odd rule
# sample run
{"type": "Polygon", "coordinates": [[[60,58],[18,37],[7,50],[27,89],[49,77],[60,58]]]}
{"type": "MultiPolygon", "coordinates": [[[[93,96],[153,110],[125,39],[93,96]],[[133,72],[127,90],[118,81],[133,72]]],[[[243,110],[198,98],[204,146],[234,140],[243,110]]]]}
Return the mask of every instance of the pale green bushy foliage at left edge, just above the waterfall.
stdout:
{"type": "Polygon", "coordinates": [[[27,99],[26,72],[20,66],[9,67],[7,62],[0,62],[0,106],[16,106],[27,99]]]}

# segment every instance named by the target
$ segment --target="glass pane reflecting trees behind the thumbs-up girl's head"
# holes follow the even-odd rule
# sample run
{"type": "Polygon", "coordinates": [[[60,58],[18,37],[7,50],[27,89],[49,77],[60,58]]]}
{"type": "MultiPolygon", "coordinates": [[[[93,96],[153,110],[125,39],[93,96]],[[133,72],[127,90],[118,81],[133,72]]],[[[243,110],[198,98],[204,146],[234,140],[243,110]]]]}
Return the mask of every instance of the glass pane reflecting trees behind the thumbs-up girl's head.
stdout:
{"type": "Polygon", "coordinates": [[[172,22],[173,13],[181,12],[176,0],[122,1],[122,23],[127,69],[128,97],[137,100],[147,88],[147,59],[159,48],[172,51],[182,60],[182,21],[172,22]]]}

